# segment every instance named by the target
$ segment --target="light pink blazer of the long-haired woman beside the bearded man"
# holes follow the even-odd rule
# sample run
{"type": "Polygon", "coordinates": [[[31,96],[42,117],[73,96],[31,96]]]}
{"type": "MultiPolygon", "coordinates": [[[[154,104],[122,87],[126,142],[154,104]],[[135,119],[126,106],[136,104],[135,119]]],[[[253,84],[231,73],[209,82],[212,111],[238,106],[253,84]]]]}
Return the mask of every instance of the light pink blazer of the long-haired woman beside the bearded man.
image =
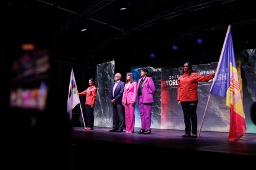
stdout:
{"type": "MultiPolygon", "coordinates": [[[[127,84],[126,84],[127,86],[127,84]]],[[[132,102],[136,103],[137,99],[137,83],[134,81],[134,83],[130,84],[128,89],[126,89],[126,86],[124,86],[124,93],[122,94],[122,103],[131,104],[132,102]]]]}

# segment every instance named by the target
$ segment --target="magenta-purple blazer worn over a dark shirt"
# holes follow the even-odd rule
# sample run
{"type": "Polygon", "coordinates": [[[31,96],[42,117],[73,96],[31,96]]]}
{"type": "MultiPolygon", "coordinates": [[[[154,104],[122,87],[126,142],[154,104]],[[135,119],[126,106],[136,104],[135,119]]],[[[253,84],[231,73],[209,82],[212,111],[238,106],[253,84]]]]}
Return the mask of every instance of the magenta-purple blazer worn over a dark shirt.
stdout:
{"type": "MultiPolygon", "coordinates": [[[[139,89],[141,80],[142,79],[140,78],[138,83],[138,89],[139,89]]],[[[152,78],[147,76],[142,84],[142,103],[153,103],[155,92],[156,92],[156,87],[155,87],[154,81],[152,78]]]]}

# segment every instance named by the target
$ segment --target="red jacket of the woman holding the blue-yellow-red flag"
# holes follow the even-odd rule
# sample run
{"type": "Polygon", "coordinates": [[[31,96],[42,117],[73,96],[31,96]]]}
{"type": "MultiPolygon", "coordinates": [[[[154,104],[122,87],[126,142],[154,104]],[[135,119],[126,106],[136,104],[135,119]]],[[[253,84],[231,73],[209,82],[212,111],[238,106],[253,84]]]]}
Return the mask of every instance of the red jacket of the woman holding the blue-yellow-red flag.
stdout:
{"type": "Polygon", "coordinates": [[[184,73],[178,78],[177,100],[181,102],[198,101],[198,81],[209,81],[210,79],[213,79],[212,75],[201,76],[198,73],[191,73],[191,75],[184,73]]]}

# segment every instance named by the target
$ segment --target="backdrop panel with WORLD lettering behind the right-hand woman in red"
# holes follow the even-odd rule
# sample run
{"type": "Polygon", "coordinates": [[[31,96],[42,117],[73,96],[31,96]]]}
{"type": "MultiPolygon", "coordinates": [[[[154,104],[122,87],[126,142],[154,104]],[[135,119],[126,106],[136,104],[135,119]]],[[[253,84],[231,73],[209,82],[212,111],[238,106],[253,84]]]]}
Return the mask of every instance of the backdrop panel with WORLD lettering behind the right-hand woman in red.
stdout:
{"type": "MultiPolygon", "coordinates": [[[[194,65],[194,72],[206,76],[213,73],[218,62],[194,65]]],[[[184,118],[182,108],[177,104],[177,79],[182,75],[182,67],[162,70],[161,81],[161,128],[184,130],[184,118]]],[[[202,122],[203,112],[207,105],[208,94],[210,92],[212,80],[198,83],[198,129],[202,122]]],[[[208,103],[203,131],[229,131],[229,109],[225,105],[226,99],[211,95],[208,103]]]]}

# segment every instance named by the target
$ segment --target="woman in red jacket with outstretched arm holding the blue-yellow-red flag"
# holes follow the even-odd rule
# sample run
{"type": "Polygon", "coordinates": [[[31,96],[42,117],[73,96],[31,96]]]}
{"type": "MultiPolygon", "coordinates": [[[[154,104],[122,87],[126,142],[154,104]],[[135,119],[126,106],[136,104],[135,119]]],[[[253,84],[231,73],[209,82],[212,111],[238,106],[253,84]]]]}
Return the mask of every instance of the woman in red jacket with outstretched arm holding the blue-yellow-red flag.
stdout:
{"type": "Polygon", "coordinates": [[[214,75],[215,73],[207,76],[198,75],[194,73],[191,63],[184,63],[177,89],[178,105],[182,107],[185,123],[185,134],[182,137],[197,138],[198,81],[209,81],[214,75]]]}

